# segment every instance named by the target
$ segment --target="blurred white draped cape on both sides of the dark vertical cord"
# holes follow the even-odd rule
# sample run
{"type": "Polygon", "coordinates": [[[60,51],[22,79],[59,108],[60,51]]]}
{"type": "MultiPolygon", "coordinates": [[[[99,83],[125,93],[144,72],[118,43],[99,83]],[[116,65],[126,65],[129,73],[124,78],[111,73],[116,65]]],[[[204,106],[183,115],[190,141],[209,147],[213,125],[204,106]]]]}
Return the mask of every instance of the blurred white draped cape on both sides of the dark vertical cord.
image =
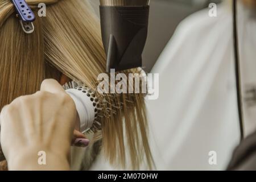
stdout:
{"type": "MultiPolygon", "coordinates": [[[[157,169],[225,169],[240,142],[232,9],[219,5],[216,18],[210,18],[208,11],[180,24],[152,69],[160,80],[159,99],[147,102],[157,169]],[[216,165],[209,154],[216,154],[216,165]]],[[[245,102],[246,90],[256,85],[255,20],[239,6],[246,135],[256,123],[255,107],[245,102]]]]}

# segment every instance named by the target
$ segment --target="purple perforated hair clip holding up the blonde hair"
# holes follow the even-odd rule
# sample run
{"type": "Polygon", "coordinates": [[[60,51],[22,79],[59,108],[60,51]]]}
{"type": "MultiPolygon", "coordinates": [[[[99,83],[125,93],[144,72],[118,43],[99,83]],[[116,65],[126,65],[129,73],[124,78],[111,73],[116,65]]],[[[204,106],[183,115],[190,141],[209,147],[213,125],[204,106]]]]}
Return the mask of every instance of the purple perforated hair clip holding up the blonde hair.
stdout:
{"type": "Polygon", "coordinates": [[[26,34],[34,32],[35,15],[25,0],[11,0],[16,9],[16,15],[20,19],[22,29],[26,34]]]}

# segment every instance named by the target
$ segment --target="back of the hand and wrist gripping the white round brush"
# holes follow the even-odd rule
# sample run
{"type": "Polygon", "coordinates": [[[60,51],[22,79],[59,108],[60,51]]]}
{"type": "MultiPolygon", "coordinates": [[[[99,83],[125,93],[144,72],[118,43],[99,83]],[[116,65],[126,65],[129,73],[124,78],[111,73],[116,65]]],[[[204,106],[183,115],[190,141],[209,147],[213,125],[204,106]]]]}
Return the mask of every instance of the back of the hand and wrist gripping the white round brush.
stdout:
{"type": "Polygon", "coordinates": [[[75,119],[73,100],[55,80],[3,107],[1,146],[9,169],[68,170],[75,119]]]}

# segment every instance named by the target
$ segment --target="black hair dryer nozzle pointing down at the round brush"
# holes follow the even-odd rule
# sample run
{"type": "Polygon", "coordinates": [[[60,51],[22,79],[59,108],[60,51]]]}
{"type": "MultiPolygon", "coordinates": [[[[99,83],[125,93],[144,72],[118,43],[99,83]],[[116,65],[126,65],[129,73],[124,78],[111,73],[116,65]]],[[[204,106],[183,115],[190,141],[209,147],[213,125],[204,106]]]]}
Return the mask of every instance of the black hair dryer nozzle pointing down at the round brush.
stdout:
{"type": "Polygon", "coordinates": [[[110,72],[110,69],[122,71],[142,67],[149,8],[149,6],[100,6],[107,72],[110,72]]]}

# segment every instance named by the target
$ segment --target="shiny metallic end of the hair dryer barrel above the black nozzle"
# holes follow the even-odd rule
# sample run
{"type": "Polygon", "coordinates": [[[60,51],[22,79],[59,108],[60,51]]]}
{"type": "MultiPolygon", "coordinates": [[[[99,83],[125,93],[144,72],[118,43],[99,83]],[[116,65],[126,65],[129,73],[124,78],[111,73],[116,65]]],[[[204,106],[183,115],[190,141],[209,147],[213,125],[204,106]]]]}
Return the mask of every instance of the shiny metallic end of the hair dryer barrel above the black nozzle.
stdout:
{"type": "Polygon", "coordinates": [[[100,0],[102,6],[146,6],[150,0],[100,0]]]}

